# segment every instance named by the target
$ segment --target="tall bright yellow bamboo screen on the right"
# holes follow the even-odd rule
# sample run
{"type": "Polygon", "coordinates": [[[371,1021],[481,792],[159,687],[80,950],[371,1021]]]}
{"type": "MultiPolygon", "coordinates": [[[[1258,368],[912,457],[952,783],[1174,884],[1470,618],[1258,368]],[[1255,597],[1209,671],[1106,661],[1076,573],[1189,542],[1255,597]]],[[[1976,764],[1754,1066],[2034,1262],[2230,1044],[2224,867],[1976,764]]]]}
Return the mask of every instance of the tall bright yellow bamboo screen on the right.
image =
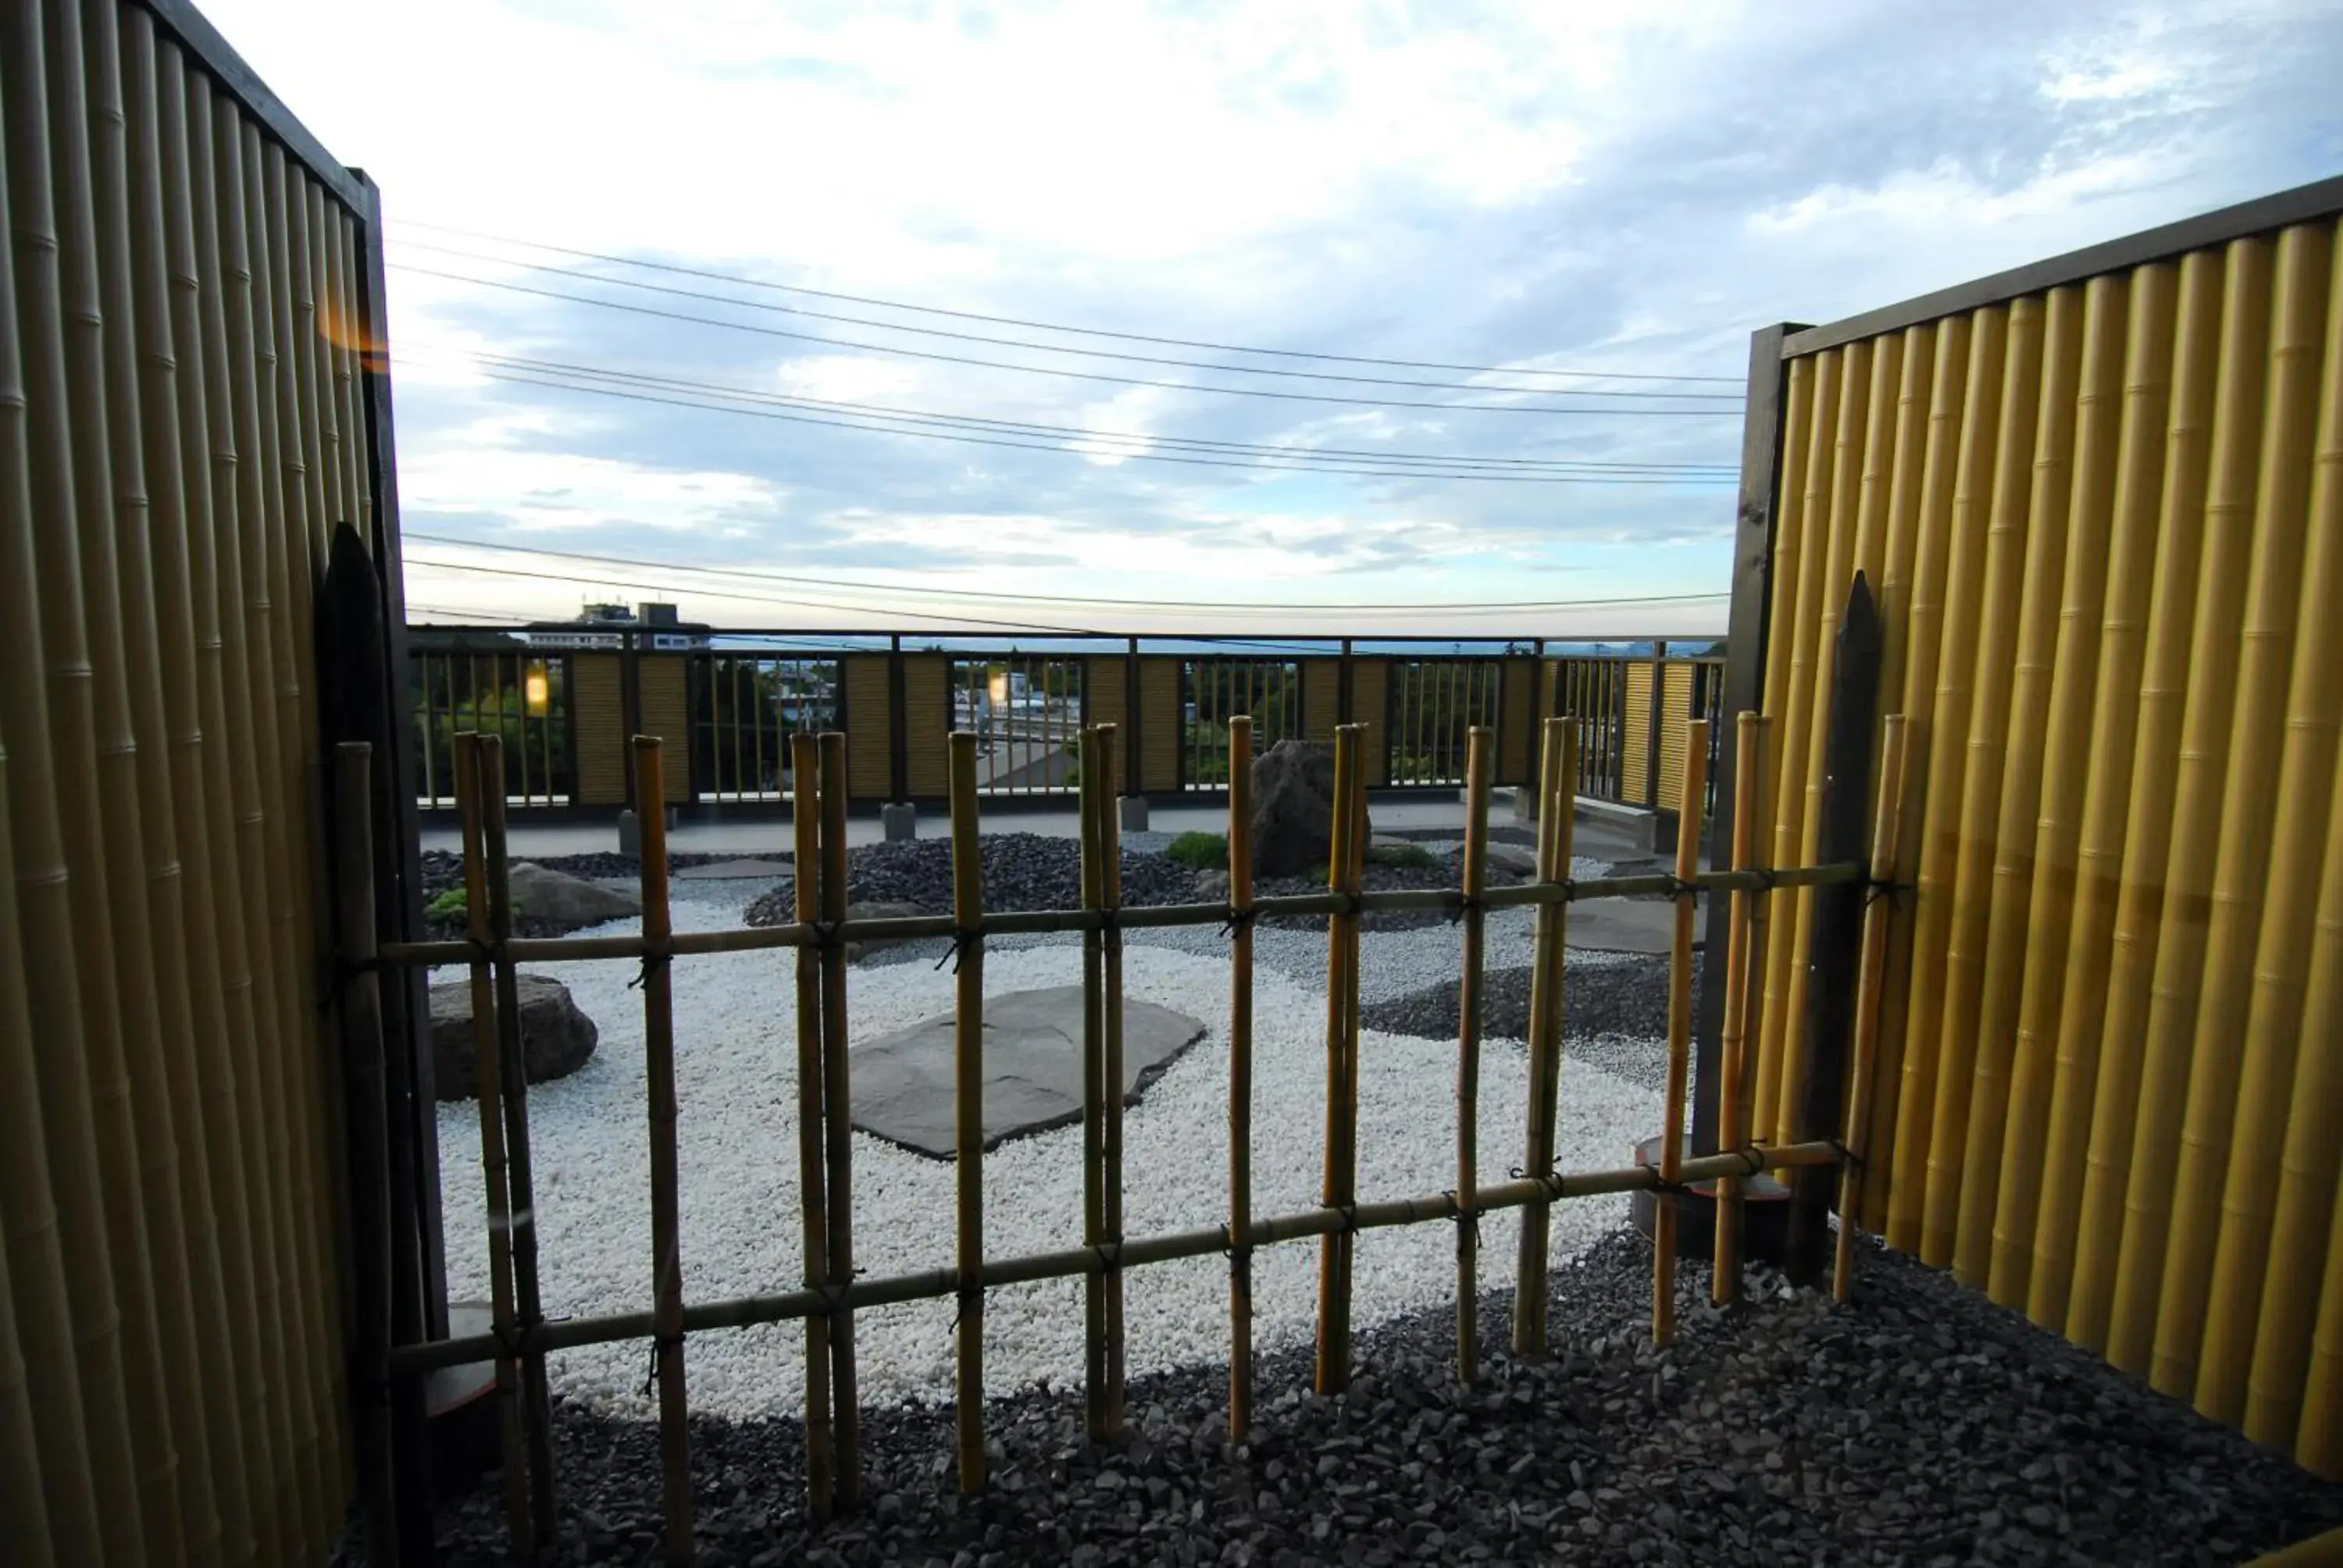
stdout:
{"type": "MultiPolygon", "coordinates": [[[[1799,865],[1870,577],[1912,783],[1865,1226],[2329,1477],[2336,251],[2317,218],[1790,359],[1764,656],[1799,865]]],[[[1809,895],[1774,900],[1778,1137],[1809,895]]]]}

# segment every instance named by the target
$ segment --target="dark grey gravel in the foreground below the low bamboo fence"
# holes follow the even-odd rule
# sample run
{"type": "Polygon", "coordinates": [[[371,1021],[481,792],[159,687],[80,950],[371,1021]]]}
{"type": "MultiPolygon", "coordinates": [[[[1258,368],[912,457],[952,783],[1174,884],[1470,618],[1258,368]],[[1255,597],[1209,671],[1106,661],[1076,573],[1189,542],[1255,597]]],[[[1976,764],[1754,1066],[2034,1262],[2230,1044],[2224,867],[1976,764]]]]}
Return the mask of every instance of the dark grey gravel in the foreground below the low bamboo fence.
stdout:
{"type": "MultiPolygon", "coordinates": [[[[1666,1355],[1649,1270],[1640,1235],[1598,1242],[1553,1277],[1553,1359],[1492,1350],[1469,1392],[1446,1308],[1361,1336],[1345,1399],[1307,1392],[1307,1350],[1265,1357],[1235,1455],[1221,1366],[1134,1380],[1115,1448],[1082,1444],[1080,1390],[993,1402],[968,1502],[949,1406],[874,1409],[867,1507],[829,1530],[794,1418],[694,1420],[698,1561],[2238,1563],[2343,1521],[2343,1486],[1910,1259],[1867,1247],[1839,1308],[1755,1270],[1731,1315],[1687,1266],[1666,1355]]],[[[555,1448],[551,1561],[658,1561],[656,1427],[562,1406],[555,1448]]],[[[506,1561],[497,1491],[443,1519],[448,1563],[506,1561]]]]}

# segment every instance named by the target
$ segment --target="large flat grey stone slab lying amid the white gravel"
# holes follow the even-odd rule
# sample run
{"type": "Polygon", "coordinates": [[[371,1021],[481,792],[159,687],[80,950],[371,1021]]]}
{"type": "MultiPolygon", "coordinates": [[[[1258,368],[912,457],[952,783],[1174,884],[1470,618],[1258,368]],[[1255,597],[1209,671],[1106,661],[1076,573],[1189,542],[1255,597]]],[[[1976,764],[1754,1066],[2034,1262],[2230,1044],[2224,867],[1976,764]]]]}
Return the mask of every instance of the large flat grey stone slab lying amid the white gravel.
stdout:
{"type": "MultiPolygon", "coordinates": [[[[1122,1001],[1122,1104],[1139,1097],[1204,1024],[1122,1001]]],[[[855,1127],[911,1153],[954,1158],[951,1015],[853,1045],[855,1127]]],[[[1010,991],[984,998],[984,1146],[1082,1120],[1082,987],[1010,991]]]]}

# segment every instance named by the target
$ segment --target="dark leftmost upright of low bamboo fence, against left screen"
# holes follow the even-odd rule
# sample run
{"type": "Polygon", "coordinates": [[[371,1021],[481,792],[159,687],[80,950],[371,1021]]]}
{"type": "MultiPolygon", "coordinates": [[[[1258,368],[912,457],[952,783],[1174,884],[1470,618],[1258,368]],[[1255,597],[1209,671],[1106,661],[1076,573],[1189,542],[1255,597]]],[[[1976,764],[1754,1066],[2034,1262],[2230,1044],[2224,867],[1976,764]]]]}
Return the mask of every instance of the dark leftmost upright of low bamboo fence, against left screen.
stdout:
{"type": "Polygon", "coordinates": [[[349,1252],[356,1373],[356,1470],[368,1559],[401,1561],[398,1486],[391,1474],[391,1148],[382,1059],[382,984],[375,980],[375,748],[335,748],[335,898],[342,959],[342,1083],[349,1092],[349,1252]]]}

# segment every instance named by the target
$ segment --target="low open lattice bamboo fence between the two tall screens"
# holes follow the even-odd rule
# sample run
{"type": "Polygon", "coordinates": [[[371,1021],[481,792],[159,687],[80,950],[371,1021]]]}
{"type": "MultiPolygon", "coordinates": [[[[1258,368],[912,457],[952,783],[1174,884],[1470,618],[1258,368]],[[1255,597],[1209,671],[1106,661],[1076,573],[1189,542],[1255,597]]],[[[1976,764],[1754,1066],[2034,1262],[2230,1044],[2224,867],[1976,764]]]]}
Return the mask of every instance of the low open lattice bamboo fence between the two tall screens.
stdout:
{"type": "MultiPolygon", "coordinates": [[[[1750,736],[1739,748],[1741,766],[1755,769],[1757,722],[1741,720],[1750,736]]],[[[1546,1277],[1549,1228],[1553,1202],[1596,1193],[1657,1191],[1659,1245],[1652,1294],[1652,1331],[1661,1343],[1673,1334],[1673,1280],[1678,1245],[1678,1195],[1694,1181],[1724,1181],[1736,1195],[1736,1179],[1762,1170],[1804,1170],[1828,1174],[1844,1167],[1849,1186],[1858,1165],[1849,1148],[1860,1151],[1860,1120],[1842,1127],[1830,1120],[1806,1130],[1799,1141],[1736,1141],[1720,1153],[1685,1158],[1682,1123],[1692,1050],[1692,921],[1701,891],[1731,893],[1741,919],[1734,926],[1731,970],[1736,996],[1750,1013],[1736,1036],[1755,1029],[1760,994],[1746,984],[1757,956],[1748,933],[1760,930],[1755,914],[1767,888],[1830,888],[1865,879],[1860,863],[1795,870],[1755,865],[1757,790],[1743,790],[1741,818],[1734,825],[1734,870],[1699,872],[1699,844],[1687,834],[1678,848],[1671,877],[1612,877],[1572,881],[1570,867],[1570,785],[1577,778],[1579,727],[1574,720],[1546,720],[1539,757],[1539,841],[1537,879],[1525,886],[1488,886],[1488,802],[1495,759],[1495,734],[1474,727],[1467,748],[1467,853],[1457,888],[1434,891],[1361,891],[1366,865],[1366,769],[1361,766],[1361,724],[1336,731],[1336,820],[1328,855],[1326,893],[1291,898],[1256,898],[1251,881],[1251,720],[1230,722],[1230,900],[1225,905],[1125,907],[1120,888],[1120,830],[1115,820],[1115,731],[1089,727],[1080,736],[1082,792],[1082,907],[1057,912],[986,914],[982,860],[977,853],[977,738],[951,738],[951,851],[954,909],[949,916],[916,919],[846,919],[846,736],[797,736],[797,778],[811,780],[804,809],[797,813],[797,902],[787,926],[675,933],[668,923],[668,846],[658,813],[644,818],[642,834],[642,935],[621,938],[515,938],[513,905],[504,886],[504,759],[497,736],[466,734],[457,743],[455,785],[464,820],[464,874],[471,930],[455,942],[387,942],[375,949],[361,935],[342,954],[347,987],[344,1022],[354,1029],[354,1052],[363,1057],[373,1041],[373,987],[384,968],[469,963],[480,1085],[480,1167],[487,1181],[490,1275],[494,1327],[487,1334],[431,1343],[391,1345],[387,1320],[358,1317],[361,1378],[382,1383],[410,1380],[431,1369],[466,1362],[494,1362],[501,1411],[506,1516],[515,1552],[527,1556],[551,1540],[555,1528],[555,1477],[548,1413],[546,1357],[553,1350],[623,1338],[647,1338],[658,1388],[658,1430],[663,1451],[665,1549],[675,1563],[691,1561],[691,1451],[686,1434],[684,1357],[691,1334],[743,1329],[750,1324],[801,1322],[806,1348],[806,1467],[808,1507],[827,1519],[851,1509],[860,1495],[862,1439],[855,1397],[855,1313],[883,1303],[954,1298],[958,1305],[956,1423],[958,1486],[975,1493],[984,1486],[984,1291],[1003,1284],[1073,1277],[1085,1282],[1085,1418],[1094,1441],[1111,1441],[1122,1430],[1125,1322],[1122,1275],[1129,1268],[1172,1259],[1228,1254],[1230,1259],[1230,1439],[1242,1441],[1254,1420],[1254,1350],[1251,1350],[1251,1254],[1279,1242],[1317,1238],[1319,1242],[1319,1317],[1314,1383],[1319,1392],[1340,1392],[1352,1371],[1352,1245],[1359,1230],[1408,1223],[1453,1223],[1457,1235],[1457,1378],[1474,1380],[1478,1352],[1478,1247],[1476,1216],[1518,1207],[1525,1212],[1518,1280],[1514,1298],[1511,1348],[1516,1355],[1542,1355],[1546,1348],[1546,1277]],[[1673,895],[1678,907],[1666,1127],[1657,1165],[1628,1165],[1596,1172],[1556,1172],[1556,1102],[1563,1055],[1563,938],[1570,902],[1598,895],[1673,895]],[[1530,1005],[1530,1109],[1523,1127],[1523,1165],[1507,1179],[1483,1184],[1476,1170],[1476,1102],[1481,1050],[1481,959],[1483,923],[1490,909],[1535,909],[1535,968],[1530,1005]],[[1457,1036],[1457,1181],[1443,1193],[1359,1202],[1357,1198],[1357,1106],[1359,1106],[1359,916],[1373,909],[1448,909],[1464,928],[1462,1022],[1457,1036]],[[1254,1003],[1254,923],[1265,916],[1326,916],[1326,1127],[1324,1186],[1312,1209],[1296,1214],[1256,1214],[1251,1195],[1251,1003],[1254,1003]],[[1122,1233],[1122,938],[1127,930],[1162,926],[1221,923],[1230,935],[1230,1095],[1228,1095],[1228,1219],[1218,1226],[1164,1235],[1122,1233]],[[984,1254],[984,1130],[982,1130],[982,1017],[984,1017],[984,942],[1007,933],[1082,933],[1082,1245],[1038,1256],[984,1254]],[[956,1259],[949,1266],[893,1275],[858,1277],[853,1252],[853,1137],[848,1104],[848,1017],[846,1017],[846,945],[851,940],[951,938],[958,956],[956,980],[956,1259]],[[719,954],[752,949],[797,952],[797,1160],[801,1191],[804,1284],[794,1291],[745,1296],[733,1301],[684,1298],[684,1275],[677,1226],[677,1099],[675,1099],[675,1027],[668,966],[682,954],[719,954]],[[520,1020],[513,1005],[515,968],[532,959],[604,959],[642,966],[644,1052],[649,1076],[649,1146],[651,1146],[651,1247],[654,1301],[647,1310],[607,1317],[548,1320],[539,1291],[537,1233],[532,1221],[527,1083],[522,1073],[520,1020]]],[[[1687,734],[1685,778],[1696,790],[1708,759],[1708,727],[1696,722],[1687,734]]],[[[1900,750],[1900,748],[1898,748],[1900,750]]],[[[635,783],[656,799],[663,783],[661,743],[637,736],[633,743],[635,783]]],[[[363,799],[368,790],[368,750],[344,745],[340,788],[344,799],[363,799]]],[[[1755,773],[1750,773],[1755,778],[1755,773]]],[[[1895,766],[1888,766],[1893,780],[1895,766]]],[[[1893,799],[1893,795],[1884,795],[1893,799]]],[[[351,909],[366,907],[370,844],[366,816],[340,813],[347,832],[340,841],[342,898],[351,909]]],[[[1884,813],[1891,832],[1895,811],[1884,813]]],[[[1888,841],[1888,858],[1891,858],[1888,841]]],[[[1865,954],[1884,947],[1886,900],[1872,900],[1865,954]]],[[[1877,961],[1865,966],[1867,996],[1877,998],[1877,961]]],[[[1739,1017],[1739,1013],[1736,1013],[1739,1017]]],[[[1867,1045],[1877,1031],[1858,1029],[1867,1045]]],[[[1858,1050],[1860,1055],[1860,1050],[1858,1050]]],[[[1858,1059],[1858,1083],[1865,1066],[1858,1059]]],[[[375,1092],[368,1073],[351,1073],[361,1102],[375,1092]]],[[[1736,1099],[1736,1095],[1727,1095],[1736,1099]]],[[[1853,1102],[1863,1104],[1860,1095],[1853,1102]]],[[[361,1106],[363,1109],[363,1106],[361,1106]]],[[[1739,1120],[1734,1125],[1741,1125],[1739,1120]]],[[[361,1155],[366,1151],[358,1151],[361,1155]]],[[[375,1179],[358,1160],[358,1186],[375,1179]]],[[[1830,1184],[1823,1184],[1828,1191],[1830,1184]]],[[[354,1205],[358,1230],[366,1230],[370,1202],[358,1193],[354,1205]]],[[[1851,1209],[1849,1209],[1851,1212],[1851,1209]]],[[[1739,1223],[1739,1205],[1717,1207],[1722,1256],[1736,1252],[1729,1233],[1739,1223]]],[[[1816,1235],[1821,1216],[1816,1214],[1816,1235]]],[[[1837,1259],[1839,1289],[1849,1252],[1837,1259]]],[[[1731,1301],[1739,1268],[1717,1270],[1715,1294],[1731,1301]]],[[[361,1280],[361,1298],[366,1284],[361,1280]]],[[[370,1406],[373,1420],[389,1420],[389,1406],[370,1406]]],[[[387,1434],[377,1434],[387,1437],[387,1434]]],[[[380,1451],[389,1451],[384,1441],[380,1451]]],[[[373,1477],[370,1519],[394,1519],[384,1488],[403,1484],[389,1472],[373,1477]]],[[[389,1561],[389,1554],[384,1556],[389,1561]]]]}

